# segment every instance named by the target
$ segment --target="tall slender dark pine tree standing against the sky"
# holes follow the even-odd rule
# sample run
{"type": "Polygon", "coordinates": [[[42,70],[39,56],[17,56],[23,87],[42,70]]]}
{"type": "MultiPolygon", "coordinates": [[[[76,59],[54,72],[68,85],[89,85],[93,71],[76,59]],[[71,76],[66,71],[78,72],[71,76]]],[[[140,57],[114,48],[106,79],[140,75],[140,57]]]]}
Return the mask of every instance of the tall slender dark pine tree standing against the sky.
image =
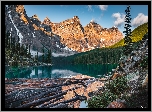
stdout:
{"type": "Polygon", "coordinates": [[[132,39],[130,38],[131,37],[131,29],[130,29],[130,27],[131,27],[131,25],[130,25],[130,23],[131,23],[131,18],[130,18],[130,6],[127,6],[127,9],[125,10],[125,12],[126,12],[126,16],[125,16],[125,22],[126,22],[126,24],[125,24],[125,31],[123,31],[123,33],[126,33],[125,34],[125,38],[124,38],[124,44],[126,44],[125,45],[125,47],[124,47],[124,54],[125,55],[127,55],[127,54],[129,54],[131,51],[132,51],[132,39]]]}

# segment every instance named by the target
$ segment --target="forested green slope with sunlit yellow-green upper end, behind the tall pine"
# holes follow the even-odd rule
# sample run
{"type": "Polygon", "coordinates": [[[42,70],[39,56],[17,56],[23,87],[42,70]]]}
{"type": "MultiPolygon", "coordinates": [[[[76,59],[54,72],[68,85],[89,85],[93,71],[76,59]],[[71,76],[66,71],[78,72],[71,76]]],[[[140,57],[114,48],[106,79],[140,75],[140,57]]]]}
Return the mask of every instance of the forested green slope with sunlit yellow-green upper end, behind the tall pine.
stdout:
{"type": "MultiPolygon", "coordinates": [[[[148,23],[144,23],[132,31],[132,48],[136,49],[140,41],[148,34],[148,23]],[[139,35],[140,34],[140,35],[139,35]]],[[[72,63],[72,64],[104,64],[104,63],[118,63],[119,58],[123,54],[124,39],[118,43],[105,48],[96,48],[90,51],[81,52],[65,58],[54,58],[53,63],[72,63]],[[67,61],[68,60],[68,61],[67,61]]]]}

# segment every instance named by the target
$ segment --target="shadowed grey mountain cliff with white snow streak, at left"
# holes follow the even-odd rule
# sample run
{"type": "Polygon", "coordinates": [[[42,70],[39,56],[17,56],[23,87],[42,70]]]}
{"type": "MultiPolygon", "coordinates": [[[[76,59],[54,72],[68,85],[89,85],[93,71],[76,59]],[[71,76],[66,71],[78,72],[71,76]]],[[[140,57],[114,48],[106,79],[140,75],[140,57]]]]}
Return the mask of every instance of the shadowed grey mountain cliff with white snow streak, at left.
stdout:
{"type": "Polygon", "coordinates": [[[6,30],[12,37],[19,36],[21,44],[31,45],[32,50],[42,52],[42,47],[51,49],[53,53],[71,55],[77,53],[60,42],[60,37],[52,33],[51,27],[41,23],[37,15],[28,17],[23,5],[5,7],[6,30]]]}

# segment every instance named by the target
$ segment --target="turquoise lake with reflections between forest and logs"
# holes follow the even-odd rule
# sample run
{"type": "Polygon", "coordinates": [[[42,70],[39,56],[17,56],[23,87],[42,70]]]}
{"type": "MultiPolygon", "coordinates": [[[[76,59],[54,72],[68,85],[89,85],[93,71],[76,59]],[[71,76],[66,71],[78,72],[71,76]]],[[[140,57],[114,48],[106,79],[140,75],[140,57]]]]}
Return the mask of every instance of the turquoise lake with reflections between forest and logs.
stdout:
{"type": "Polygon", "coordinates": [[[99,78],[116,67],[117,64],[5,67],[5,78],[67,78],[77,74],[99,78]]]}

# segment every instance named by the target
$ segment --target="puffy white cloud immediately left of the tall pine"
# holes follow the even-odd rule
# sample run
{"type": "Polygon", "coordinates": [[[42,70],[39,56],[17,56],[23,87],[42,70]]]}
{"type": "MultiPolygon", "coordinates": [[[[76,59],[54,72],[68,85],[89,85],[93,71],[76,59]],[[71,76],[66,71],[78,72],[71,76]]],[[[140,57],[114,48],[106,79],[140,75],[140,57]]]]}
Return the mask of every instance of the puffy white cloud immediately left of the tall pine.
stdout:
{"type": "Polygon", "coordinates": [[[123,13],[113,13],[112,17],[115,18],[114,25],[120,27],[125,21],[125,14],[123,13]]]}

